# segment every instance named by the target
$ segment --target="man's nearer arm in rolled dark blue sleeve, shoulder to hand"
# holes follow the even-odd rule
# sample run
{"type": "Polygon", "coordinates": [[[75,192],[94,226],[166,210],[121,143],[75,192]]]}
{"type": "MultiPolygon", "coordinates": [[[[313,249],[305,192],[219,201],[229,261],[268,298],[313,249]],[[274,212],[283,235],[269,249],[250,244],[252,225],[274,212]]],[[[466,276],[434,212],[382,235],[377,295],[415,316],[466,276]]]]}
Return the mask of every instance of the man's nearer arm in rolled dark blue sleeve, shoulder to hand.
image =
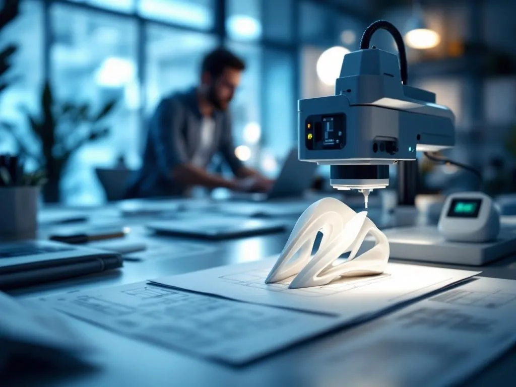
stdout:
{"type": "Polygon", "coordinates": [[[165,99],[156,108],[150,130],[162,173],[184,185],[239,189],[238,182],[210,174],[188,163],[186,143],[181,133],[185,119],[184,107],[178,100],[165,99]]]}

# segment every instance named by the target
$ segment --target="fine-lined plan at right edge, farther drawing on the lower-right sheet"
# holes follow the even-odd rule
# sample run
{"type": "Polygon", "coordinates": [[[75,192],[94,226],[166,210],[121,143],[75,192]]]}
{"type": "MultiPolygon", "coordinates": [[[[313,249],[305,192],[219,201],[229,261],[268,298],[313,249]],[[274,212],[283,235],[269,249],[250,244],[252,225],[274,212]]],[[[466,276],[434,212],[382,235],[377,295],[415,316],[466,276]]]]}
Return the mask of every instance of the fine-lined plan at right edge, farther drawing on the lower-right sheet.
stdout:
{"type": "Polygon", "coordinates": [[[470,307],[486,309],[497,309],[514,300],[516,300],[516,294],[504,293],[501,291],[471,292],[460,289],[449,291],[436,297],[430,298],[430,301],[445,302],[456,305],[467,305],[470,307]]]}

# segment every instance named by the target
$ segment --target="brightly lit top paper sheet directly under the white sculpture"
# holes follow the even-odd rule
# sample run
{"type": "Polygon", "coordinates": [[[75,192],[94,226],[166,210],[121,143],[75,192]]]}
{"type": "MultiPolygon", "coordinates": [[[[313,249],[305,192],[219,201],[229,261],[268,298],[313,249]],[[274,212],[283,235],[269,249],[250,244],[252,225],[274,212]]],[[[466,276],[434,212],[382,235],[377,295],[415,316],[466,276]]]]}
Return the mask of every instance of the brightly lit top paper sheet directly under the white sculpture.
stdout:
{"type": "Polygon", "coordinates": [[[341,278],[324,286],[289,289],[292,278],[264,283],[276,259],[277,256],[215,267],[152,282],[245,302],[331,314],[341,322],[351,322],[478,274],[478,271],[391,263],[378,276],[341,278]]]}

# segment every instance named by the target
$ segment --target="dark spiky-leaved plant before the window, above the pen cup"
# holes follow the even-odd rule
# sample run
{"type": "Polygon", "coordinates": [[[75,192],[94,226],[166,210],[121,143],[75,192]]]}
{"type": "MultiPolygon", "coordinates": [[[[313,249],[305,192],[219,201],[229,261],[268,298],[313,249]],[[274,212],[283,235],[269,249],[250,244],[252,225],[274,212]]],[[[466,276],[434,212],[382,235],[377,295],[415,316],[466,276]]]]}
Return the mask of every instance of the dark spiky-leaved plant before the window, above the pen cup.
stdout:
{"type": "Polygon", "coordinates": [[[104,121],[115,107],[116,100],[108,101],[98,112],[91,112],[88,103],[56,101],[50,82],[45,82],[40,101],[39,115],[33,114],[26,107],[23,108],[30,131],[39,143],[38,152],[31,149],[31,139],[20,135],[15,125],[4,122],[3,127],[17,142],[19,155],[25,159],[35,160],[38,168],[45,170],[45,202],[59,202],[59,184],[67,163],[86,143],[109,134],[109,128],[104,121]]]}

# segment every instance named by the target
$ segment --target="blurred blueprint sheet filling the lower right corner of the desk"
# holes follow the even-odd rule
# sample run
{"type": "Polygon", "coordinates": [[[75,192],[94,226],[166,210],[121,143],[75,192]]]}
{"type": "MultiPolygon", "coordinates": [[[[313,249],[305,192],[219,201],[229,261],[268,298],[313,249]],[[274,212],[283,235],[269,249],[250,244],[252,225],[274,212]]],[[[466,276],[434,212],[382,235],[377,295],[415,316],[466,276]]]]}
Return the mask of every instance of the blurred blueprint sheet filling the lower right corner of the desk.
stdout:
{"type": "Polygon", "coordinates": [[[456,385],[516,343],[514,321],[516,281],[478,278],[329,338],[301,368],[320,385],[456,385]]]}

